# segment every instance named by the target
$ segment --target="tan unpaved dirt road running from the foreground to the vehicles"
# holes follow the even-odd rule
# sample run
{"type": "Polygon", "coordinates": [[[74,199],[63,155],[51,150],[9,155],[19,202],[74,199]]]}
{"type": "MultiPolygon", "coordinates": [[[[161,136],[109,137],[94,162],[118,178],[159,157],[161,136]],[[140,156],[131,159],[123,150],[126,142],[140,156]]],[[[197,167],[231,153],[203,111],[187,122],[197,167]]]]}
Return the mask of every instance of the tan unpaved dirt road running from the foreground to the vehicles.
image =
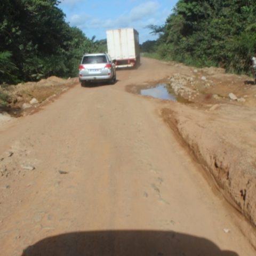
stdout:
{"type": "Polygon", "coordinates": [[[125,91],[167,75],[142,59],[1,127],[0,255],[255,255],[162,103],[125,91]]]}

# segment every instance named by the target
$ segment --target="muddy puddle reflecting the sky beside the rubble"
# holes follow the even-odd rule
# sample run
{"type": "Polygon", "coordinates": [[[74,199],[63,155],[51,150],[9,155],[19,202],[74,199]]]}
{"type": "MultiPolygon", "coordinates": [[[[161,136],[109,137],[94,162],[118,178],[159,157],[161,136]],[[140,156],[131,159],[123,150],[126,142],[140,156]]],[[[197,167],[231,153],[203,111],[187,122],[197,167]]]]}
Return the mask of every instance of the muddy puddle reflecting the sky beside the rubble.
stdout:
{"type": "Polygon", "coordinates": [[[154,88],[140,90],[140,94],[144,96],[151,96],[161,100],[177,101],[177,96],[167,90],[166,84],[158,84],[154,88]]]}

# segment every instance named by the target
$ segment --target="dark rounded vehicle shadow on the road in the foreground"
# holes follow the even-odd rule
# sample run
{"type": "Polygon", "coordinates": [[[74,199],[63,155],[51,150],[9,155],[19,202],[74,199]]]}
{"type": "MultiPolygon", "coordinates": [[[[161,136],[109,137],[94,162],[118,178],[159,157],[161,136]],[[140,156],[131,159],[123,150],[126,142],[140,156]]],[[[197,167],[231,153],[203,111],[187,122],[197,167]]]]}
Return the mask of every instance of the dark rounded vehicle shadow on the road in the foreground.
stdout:
{"type": "Polygon", "coordinates": [[[213,242],[174,231],[89,231],[48,237],[22,256],[238,256],[213,242]]]}

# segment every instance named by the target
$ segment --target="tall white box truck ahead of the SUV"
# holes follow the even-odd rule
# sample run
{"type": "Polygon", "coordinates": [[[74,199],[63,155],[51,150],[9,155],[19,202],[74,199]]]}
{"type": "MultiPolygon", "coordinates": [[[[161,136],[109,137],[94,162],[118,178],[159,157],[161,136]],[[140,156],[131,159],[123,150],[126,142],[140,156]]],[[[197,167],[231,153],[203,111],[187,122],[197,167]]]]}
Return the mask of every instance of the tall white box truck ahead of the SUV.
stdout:
{"type": "Polygon", "coordinates": [[[139,33],[134,28],[109,29],[107,33],[108,54],[117,68],[140,65],[139,33]]]}

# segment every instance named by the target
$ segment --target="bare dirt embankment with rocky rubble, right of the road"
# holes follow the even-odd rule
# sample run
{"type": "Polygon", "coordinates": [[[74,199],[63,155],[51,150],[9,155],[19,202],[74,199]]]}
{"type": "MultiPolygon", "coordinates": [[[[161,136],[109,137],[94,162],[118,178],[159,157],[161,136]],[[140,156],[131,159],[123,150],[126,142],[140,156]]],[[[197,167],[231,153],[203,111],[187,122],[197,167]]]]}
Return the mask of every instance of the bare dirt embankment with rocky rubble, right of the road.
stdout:
{"type": "Polygon", "coordinates": [[[215,68],[188,68],[187,74],[173,74],[168,81],[170,90],[191,104],[164,108],[164,120],[255,227],[256,85],[249,77],[215,68]]]}

